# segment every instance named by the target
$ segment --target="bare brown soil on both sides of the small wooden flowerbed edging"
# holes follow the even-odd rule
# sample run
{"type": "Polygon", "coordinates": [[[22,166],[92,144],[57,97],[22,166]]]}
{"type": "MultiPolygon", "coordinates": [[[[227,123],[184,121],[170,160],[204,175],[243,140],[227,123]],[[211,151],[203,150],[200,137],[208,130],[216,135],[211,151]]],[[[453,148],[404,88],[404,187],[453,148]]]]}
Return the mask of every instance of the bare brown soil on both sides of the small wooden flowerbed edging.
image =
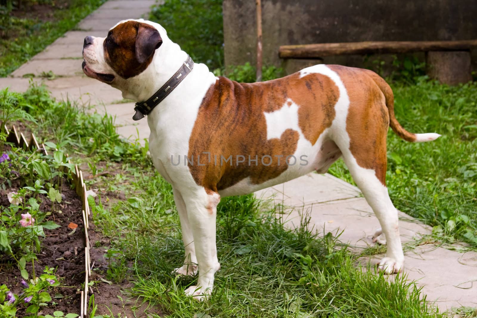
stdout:
{"type": "MultiPolygon", "coordinates": [[[[6,145],[4,151],[8,151],[10,147],[6,145]]],[[[99,168],[105,168],[105,163],[97,165],[99,168]]],[[[103,170],[101,169],[101,170],[103,170]]],[[[83,177],[85,180],[97,176],[92,176],[88,171],[88,167],[84,164],[82,167],[83,177]]],[[[112,164],[107,172],[100,173],[104,177],[114,177],[114,174],[121,173],[120,165],[112,164]]],[[[101,178],[98,178],[101,179],[101,178]]],[[[9,206],[7,193],[17,191],[21,186],[20,180],[14,180],[12,187],[7,190],[0,189],[0,205],[9,206]]],[[[41,240],[41,251],[37,255],[38,260],[35,261],[35,270],[37,275],[41,274],[44,267],[54,267],[56,274],[61,278],[61,286],[56,287],[50,294],[53,297],[54,304],[48,307],[42,307],[39,314],[52,315],[54,311],[61,310],[64,313],[80,313],[81,290],[84,283],[84,228],[82,218],[81,200],[73,189],[69,188],[68,182],[63,180],[62,194],[65,197],[60,204],[59,209],[62,213],[53,213],[45,218],[45,221],[52,220],[61,227],[54,230],[45,229],[46,237],[41,240]],[[68,236],[71,229],[68,228],[70,222],[76,223],[75,233],[68,236]],[[64,253],[69,252],[71,256],[65,257],[64,253]],[[59,259],[60,258],[60,259],[59,259]]],[[[122,191],[99,191],[104,206],[110,206],[115,201],[125,200],[126,197],[122,191]]],[[[51,211],[51,202],[44,196],[40,195],[42,211],[51,211]]],[[[99,197],[96,197],[99,200],[99,197]]],[[[58,208],[56,208],[58,209],[58,208]]],[[[161,315],[163,312],[160,308],[150,307],[147,303],[143,303],[143,299],[131,297],[130,289],[132,284],[127,280],[115,284],[107,281],[106,271],[108,269],[108,260],[104,258],[104,254],[110,246],[110,241],[101,236],[100,231],[95,231],[93,220],[90,217],[90,227],[88,236],[90,240],[90,256],[91,256],[91,276],[89,282],[93,285],[89,288],[88,300],[94,295],[94,304],[98,305],[96,315],[115,316],[121,314],[121,317],[150,317],[148,314],[153,313],[161,315]],[[134,309],[134,310],[133,310],[134,309]]],[[[131,265],[132,267],[132,265],[131,265]]],[[[31,264],[27,264],[27,271],[31,273],[31,264]]],[[[12,260],[5,260],[0,257],[0,284],[6,284],[15,294],[21,293],[20,271],[12,260]],[[12,265],[13,264],[13,265],[12,265]]],[[[90,313],[88,310],[88,314],[90,313]]],[[[18,317],[25,315],[25,309],[19,309],[18,317]]]]}

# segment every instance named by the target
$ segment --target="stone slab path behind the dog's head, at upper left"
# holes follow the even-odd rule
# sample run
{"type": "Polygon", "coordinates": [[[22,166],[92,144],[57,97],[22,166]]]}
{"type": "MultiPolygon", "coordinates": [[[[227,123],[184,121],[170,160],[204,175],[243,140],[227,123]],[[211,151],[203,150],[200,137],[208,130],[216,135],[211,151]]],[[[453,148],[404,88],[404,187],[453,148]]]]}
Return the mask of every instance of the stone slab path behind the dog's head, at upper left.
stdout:
{"type": "Polygon", "coordinates": [[[135,122],[134,103],[124,103],[121,92],[107,84],[98,82],[83,74],[83,40],[87,35],[106,36],[111,27],[124,19],[148,18],[147,13],[156,0],[109,0],[81,21],[75,31],[66,32],[44,51],[35,55],[7,78],[0,78],[0,89],[7,86],[13,91],[28,89],[29,79],[25,75],[34,74],[35,82],[44,82],[52,96],[70,99],[80,105],[96,105],[95,110],[116,116],[118,133],[126,138],[138,138],[144,144],[149,137],[147,121],[135,122]],[[41,78],[52,72],[53,80],[41,78]],[[136,130],[137,129],[137,130],[136,130]]]}

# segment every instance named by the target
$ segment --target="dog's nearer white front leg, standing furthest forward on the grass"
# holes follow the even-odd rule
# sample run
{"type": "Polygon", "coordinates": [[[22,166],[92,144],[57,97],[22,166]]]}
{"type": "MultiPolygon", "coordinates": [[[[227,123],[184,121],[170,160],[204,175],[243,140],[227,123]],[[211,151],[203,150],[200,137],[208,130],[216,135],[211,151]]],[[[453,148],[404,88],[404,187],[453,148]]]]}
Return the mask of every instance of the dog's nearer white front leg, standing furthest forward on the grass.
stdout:
{"type": "Polygon", "coordinates": [[[183,196],[199,265],[197,286],[190,286],[185,292],[187,296],[200,301],[212,293],[215,272],[220,268],[216,246],[216,216],[220,195],[202,188],[190,196],[183,193],[183,196]]]}

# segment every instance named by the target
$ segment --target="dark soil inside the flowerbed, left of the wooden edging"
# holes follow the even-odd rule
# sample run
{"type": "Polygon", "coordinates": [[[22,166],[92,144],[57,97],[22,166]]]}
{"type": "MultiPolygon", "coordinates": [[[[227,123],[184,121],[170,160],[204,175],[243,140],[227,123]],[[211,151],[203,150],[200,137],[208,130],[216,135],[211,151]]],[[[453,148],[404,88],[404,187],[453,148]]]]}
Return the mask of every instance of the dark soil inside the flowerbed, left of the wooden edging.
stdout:
{"type": "MultiPolygon", "coordinates": [[[[0,190],[0,205],[9,206],[7,193],[18,189],[0,190]]],[[[53,314],[53,311],[61,310],[65,313],[79,314],[81,301],[81,287],[84,282],[84,228],[81,209],[81,200],[75,191],[70,189],[68,183],[63,180],[62,194],[64,198],[60,206],[56,205],[55,210],[59,209],[62,213],[53,212],[45,218],[45,221],[54,221],[61,227],[54,230],[45,229],[45,238],[41,240],[40,253],[37,254],[38,260],[35,261],[35,271],[37,275],[42,273],[45,267],[55,268],[56,274],[62,279],[61,287],[55,287],[51,296],[53,304],[48,307],[42,307],[41,314],[53,314]],[[73,235],[68,235],[72,230],[68,228],[70,222],[76,223],[73,235]],[[66,252],[66,253],[65,253],[66,252]],[[71,256],[68,256],[71,255],[71,256]]],[[[51,201],[44,195],[40,195],[41,211],[51,211],[51,201]]],[[[15,265],[10,265],[6,260],[0,260],[1,279],[0,284],[7,286],[15,293],[21,293],[20,272],[15,265]]],[[[31,263],[27,264],[27,271],[31,274],[31,263]]],[[[24,309],[19,309],[18,317],[25,314],[24,309]]]]}

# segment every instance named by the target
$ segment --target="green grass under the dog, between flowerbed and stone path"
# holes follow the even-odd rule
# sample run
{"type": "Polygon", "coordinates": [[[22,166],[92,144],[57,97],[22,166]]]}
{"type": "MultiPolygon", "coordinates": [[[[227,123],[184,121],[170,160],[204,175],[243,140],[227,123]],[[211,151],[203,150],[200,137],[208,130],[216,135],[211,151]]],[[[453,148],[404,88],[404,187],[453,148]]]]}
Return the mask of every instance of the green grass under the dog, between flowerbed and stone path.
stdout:
{"type": "Polygon", "coordinates": [[[197,303],[183,294],[197,277],[171,275],[183,260],[179,220],[171,187],[153,168],[147,148],[122,141],[112,118],[54,102],[42,87],[3,91],[0,103],[7,124],[21,121],[40,130],[41,141],[54,141],[75,154],[75,162],[90,164],[98,176],[87,182],[102,196],[96,203],[90,198],[93,220],[111,241],[109,268],[97,274],[132,282],[132,295],[170,317],[444,317],[404,276],[389,281],[373,267],[361,268],[359,256],[336,237],[306,231],[306,218],[301,229],[287,229],[273,208],[251,195],[220,203],[222,268],[211,300],[197,303]],[[101,174],[113,169],[118,173],[101,174]],[[105,197],[121,191],[127,199],[105,197]]]}

